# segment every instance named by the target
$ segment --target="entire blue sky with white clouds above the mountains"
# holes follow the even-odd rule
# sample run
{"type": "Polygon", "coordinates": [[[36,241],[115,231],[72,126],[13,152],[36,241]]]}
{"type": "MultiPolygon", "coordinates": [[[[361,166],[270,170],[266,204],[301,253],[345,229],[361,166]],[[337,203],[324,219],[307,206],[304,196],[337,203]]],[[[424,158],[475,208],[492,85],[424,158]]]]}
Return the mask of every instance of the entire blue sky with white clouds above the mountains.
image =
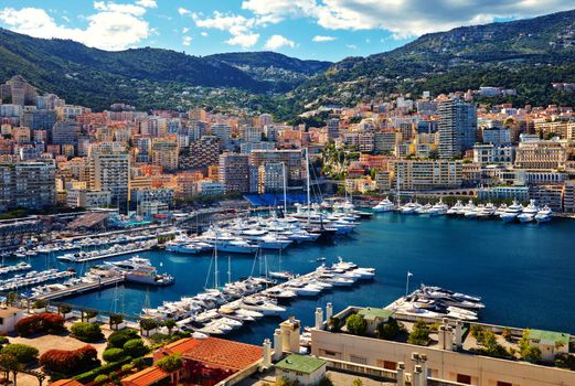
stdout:
{"type": "Polygon", "coordinates": [[[573,0],[0,0],[0,26],[107,51],[275,51],[339,61],[424,33],[573,8],[573,0]]]}

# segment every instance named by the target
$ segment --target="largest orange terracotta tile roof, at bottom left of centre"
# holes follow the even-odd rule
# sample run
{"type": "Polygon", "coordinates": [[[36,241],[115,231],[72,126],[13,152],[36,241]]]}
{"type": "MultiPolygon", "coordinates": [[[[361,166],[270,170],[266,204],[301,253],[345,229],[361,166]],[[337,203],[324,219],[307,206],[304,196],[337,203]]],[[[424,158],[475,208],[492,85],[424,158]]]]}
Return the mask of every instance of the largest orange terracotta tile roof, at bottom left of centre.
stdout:
{"type": "Polygon", "coordinates": [[[260,346],[217,337],[180,340],[167,345],[164,350],[180,353],[184,358],[236,371],[246,368],[264,355],[260,346]]]}

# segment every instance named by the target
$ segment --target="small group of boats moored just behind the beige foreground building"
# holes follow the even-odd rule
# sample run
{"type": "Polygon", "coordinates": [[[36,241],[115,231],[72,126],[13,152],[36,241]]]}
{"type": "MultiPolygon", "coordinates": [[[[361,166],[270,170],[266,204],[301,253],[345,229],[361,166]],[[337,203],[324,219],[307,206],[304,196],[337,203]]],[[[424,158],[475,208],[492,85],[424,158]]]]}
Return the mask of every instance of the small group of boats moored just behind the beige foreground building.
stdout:
{"type": "Polygon", "coordinates": [[[483,308],[481,298],[425,285],[386,307],[388,310],[416,317],[451,318],[464,321],[478,320],[479,311],[483,308]]]}

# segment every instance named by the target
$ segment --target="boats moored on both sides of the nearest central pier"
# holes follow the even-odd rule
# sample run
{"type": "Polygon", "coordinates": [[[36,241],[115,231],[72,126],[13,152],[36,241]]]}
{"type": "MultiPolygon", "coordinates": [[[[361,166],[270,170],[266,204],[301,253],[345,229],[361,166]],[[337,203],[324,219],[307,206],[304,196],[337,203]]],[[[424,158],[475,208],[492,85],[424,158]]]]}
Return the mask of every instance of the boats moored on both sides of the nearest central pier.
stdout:
{"type": "Polygon", "coordinates": [[[244,323],[286,311],[286,301],[297,297],[315,297],[321,291],[351,286],[372,279],[375,270],[342,261],[276,285],[265,277],[228,281],[223,287],[206,289],[194,297],[164,301],[155,309],[143,309],[143,317],[172,319],[181,330],[196,334],[221,335],[239,329],[244,323]]]}

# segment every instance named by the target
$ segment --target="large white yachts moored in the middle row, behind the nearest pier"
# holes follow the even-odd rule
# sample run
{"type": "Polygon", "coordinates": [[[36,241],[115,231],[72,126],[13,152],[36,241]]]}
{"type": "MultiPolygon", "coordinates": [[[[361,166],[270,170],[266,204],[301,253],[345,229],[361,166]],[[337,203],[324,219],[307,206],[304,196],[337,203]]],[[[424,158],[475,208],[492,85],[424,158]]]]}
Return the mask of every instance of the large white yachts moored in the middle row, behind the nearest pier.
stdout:
{"type": "Polygon", "coordinates": [[[258,249],[284,250],[292,245],[317,242],[322,235],[348,235],[359,225],[353,211],[324,213],[319,205],[309,210],[297,205],[297,211],[284,217],[236,218],[211,226],[202,235],[179,235],[166,244],[166,250],[195,255],[212,250],[254,254],[258,249]],[[308,226],[309,219],[309,226],[308,226]]]}

